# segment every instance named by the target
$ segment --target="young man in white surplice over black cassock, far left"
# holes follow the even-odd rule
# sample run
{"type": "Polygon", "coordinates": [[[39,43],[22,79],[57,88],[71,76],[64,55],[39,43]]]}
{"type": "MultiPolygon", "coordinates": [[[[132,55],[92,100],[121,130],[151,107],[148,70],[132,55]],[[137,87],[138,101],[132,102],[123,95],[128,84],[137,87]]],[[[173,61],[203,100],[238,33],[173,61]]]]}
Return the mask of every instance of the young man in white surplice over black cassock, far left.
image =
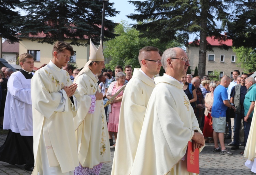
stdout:
{"type": "Polygon", "coordinates": [[[33,125],[30,82],[33,77],[33,56],[24,53],[19,56],[21,69],[8,80],[8,92],[4,108],[3,129],[10,129],[4,144],[0,147],[0,161],[10,164],[25,164],[32,171],[33,125]]]}

